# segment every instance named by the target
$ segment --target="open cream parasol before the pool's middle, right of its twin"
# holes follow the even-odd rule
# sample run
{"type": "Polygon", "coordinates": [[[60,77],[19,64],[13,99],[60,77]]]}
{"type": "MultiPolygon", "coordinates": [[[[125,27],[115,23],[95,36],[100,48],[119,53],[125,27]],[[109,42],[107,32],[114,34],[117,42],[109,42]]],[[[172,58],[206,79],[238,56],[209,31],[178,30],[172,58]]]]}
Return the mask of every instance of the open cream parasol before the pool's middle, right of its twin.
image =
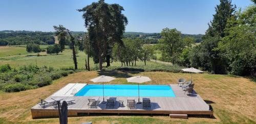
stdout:
{"type": "Polygon", "coordinates": [[[148,82],[148,81],[151,81],[151,79],[148,78],[148,77],[144,77],[144,76],[135,76],[135,77],[127,78],[126,80],[127,80],[127,82],[138,83],[139,102],[137,104],[141,104],[141,102],[140,102],[140,85],[139,85],[139,83],[148,82]]]}

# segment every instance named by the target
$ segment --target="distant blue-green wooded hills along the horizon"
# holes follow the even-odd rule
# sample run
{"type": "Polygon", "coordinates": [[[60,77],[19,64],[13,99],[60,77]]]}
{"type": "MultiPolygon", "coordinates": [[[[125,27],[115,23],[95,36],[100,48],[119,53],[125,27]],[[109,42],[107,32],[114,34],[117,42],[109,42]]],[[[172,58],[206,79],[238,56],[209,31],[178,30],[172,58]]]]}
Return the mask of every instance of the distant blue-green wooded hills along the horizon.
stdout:
{"type": "MultiPolygon", "coordinates": [[[[77,37],[81,37],[86,32],[72,32],[77,37]]],[[[0,31],[0,45],[24,45],[28,43],[35,44],[54,44],[54,32],[41,31],[0,31]]],[[[146,43],[158,43],[161,38],[160,33],[143,33],[143,32],[125,32],[124,38],[141,38],[146,43]]],[[[202,34],[182,34],[182,37],[194,37],[196,42],[202,41],[202,34]]]]}

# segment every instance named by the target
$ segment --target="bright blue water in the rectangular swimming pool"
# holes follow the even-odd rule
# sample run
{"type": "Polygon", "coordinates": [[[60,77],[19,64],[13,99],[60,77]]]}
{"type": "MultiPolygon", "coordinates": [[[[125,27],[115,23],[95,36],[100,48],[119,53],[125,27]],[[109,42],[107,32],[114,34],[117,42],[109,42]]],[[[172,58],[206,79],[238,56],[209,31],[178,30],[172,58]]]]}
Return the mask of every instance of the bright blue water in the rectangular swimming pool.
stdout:
{"type": "MultiPolygon", "coordinates": [[[[175,97],[168,85],[140,85],[140,96],[175,97]]],[[[75,96],[103,96],[102,85],[86,85],[75,96]]],[[[104,85],[104,96],[138,96],[138,85],[104,85]]]]}

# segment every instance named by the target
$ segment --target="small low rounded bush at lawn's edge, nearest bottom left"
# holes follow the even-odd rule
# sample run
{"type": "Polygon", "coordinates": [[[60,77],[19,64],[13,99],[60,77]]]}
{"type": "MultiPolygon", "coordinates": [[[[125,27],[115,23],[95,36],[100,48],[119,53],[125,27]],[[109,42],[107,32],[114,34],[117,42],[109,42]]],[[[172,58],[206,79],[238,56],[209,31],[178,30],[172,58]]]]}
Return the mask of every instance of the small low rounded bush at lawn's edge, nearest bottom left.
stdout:
{"type": "Polygon", "coordinates": [[[3,87],[5,92],[19,92],[30,88],[31,86],[22,83],[7,84],[3,87]]]}

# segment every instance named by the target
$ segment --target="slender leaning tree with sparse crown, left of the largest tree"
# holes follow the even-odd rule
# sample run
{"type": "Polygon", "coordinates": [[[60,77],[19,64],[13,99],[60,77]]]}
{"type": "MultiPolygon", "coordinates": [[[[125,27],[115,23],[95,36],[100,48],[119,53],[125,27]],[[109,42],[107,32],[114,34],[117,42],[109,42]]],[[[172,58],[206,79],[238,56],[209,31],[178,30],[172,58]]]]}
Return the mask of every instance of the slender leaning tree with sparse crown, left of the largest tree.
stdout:
{"type": "Polygon", "coordinates": [[[71,48],[72,48],[72,54],[73,54],[73,61],[75,64],[75,69],[77,69],[77,59],[76,59],[76,50],[75,50],[75,38],[73,37],[72,33],[66,29],[65,27],[63,27],[62,25],[57,26],[53,26],[56,36],[59,35],[63,35],[65,36],[65,38],[70,38],[71,41],[71,48]]]}

